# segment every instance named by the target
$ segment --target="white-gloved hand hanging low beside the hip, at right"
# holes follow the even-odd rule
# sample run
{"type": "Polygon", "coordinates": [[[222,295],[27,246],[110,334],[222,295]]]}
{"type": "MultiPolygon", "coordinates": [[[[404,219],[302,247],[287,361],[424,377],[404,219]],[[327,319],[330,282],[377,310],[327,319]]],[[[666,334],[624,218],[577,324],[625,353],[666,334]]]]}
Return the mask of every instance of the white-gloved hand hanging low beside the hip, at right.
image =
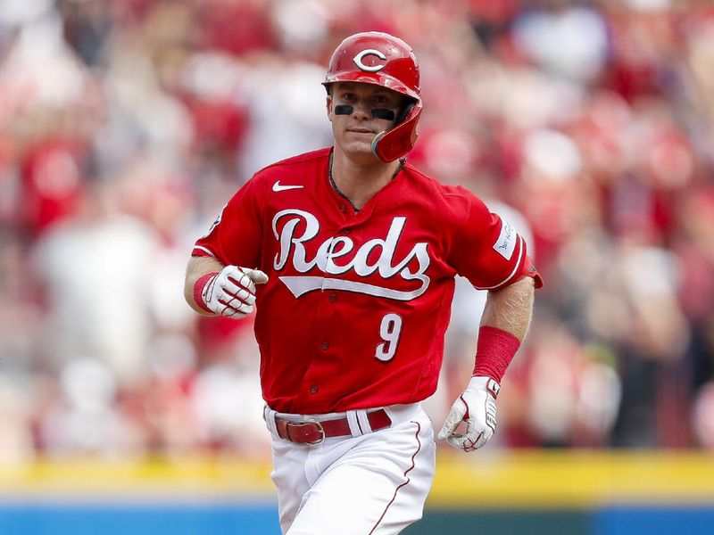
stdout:
{"type": "Polygon", "coordinates": [[[496,397],[501,386],[491,377],[471,377],[469,386],[453,402],[449,416],[439,432],[456,449],[474,451],[481,448],[496,430],[496,397]],[[466,423],[466,432],[456,429],[466,423]]]}

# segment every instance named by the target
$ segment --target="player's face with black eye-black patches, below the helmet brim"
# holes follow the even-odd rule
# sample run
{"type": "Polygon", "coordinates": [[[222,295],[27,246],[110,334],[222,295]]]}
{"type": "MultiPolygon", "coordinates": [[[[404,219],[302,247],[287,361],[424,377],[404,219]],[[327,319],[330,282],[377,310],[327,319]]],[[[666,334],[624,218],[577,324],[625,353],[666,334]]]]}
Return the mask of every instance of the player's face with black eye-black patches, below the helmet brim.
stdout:
{"type": "Polygon", "coordinates": [[[379,132],[392,128],[394,119],[375,118],[372,110],[389,110],[397,116],[405,100],[403,95],[373,84],[333,84],[332,95],[328,95],[328,117],[332,121],[336,146],[353,156],[369,155],[376,158],[372,155],[372,140],[379,132]],[[352,113],[336,113],[336,106],[339,105],[352,106],[352,113]]]}

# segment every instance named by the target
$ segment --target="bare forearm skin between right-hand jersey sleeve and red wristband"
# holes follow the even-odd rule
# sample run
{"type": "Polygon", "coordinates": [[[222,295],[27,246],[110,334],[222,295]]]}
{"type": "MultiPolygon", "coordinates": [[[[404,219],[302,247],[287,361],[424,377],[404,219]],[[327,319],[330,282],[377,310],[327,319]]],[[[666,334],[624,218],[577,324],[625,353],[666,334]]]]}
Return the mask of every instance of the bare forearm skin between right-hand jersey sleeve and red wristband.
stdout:
{"type": "Polygon", "coordinates": [[[533,316],[535,286],[527,276],[498,292],[488,292],[481,326],[511,333],[523,342],[533,316]]]}

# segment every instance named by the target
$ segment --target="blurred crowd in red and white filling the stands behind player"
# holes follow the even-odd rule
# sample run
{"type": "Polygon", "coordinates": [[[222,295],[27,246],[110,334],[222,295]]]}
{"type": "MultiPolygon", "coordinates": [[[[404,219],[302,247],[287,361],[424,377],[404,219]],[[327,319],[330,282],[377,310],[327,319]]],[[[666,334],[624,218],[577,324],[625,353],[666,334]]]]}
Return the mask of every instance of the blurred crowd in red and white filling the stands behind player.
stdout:
{"type": "MultiPolygon", "coordinates": [[[[714,448],[714,5],[2,0],[0,459],[268,454],[250,320],[195,315],[195,239],[331,143],[355,31],[417,53],[410,160],[528,236],[545,280],[489,448],[714,448]]],[[[441,425],[484,296],[458,281],[441,425]]]]}

